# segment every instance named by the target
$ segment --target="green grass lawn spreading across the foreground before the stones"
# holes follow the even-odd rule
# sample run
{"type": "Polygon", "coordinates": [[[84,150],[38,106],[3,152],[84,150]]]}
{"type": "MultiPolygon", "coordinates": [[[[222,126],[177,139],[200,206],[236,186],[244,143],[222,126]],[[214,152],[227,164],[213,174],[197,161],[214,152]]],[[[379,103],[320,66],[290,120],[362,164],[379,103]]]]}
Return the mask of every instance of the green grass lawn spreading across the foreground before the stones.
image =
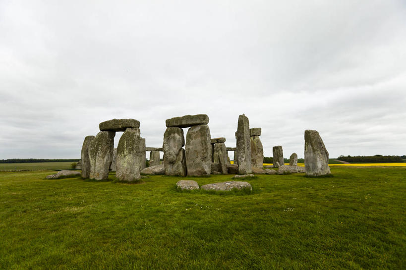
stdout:
{"type": "Polygon", "coordinates": [[[405,168],[331,170],[261,175],[250,195],[0,172],[0,269],[405,269],[405,168]]]}

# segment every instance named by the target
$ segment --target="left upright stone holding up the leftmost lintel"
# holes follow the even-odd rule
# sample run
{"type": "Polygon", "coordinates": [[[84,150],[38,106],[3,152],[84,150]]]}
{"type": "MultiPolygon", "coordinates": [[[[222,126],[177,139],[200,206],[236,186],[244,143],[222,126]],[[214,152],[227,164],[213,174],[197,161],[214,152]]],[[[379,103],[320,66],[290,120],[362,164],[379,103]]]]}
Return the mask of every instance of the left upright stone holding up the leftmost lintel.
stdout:
{"type": "Polygon", "coordinates": [[[91,179],[105,180],[109,178],[109,168],[113,161],[114,131],[100,131],[89,145],[91,179]]]}

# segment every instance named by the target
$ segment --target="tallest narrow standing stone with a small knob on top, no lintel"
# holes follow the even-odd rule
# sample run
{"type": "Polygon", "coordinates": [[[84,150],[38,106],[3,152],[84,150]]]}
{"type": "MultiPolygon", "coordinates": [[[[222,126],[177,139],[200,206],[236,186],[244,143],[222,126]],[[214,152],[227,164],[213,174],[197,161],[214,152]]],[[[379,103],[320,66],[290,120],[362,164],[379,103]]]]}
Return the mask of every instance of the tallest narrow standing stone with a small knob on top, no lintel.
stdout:
{"type": "Polygon", "coordinates": [[[238,116],[237,137],[237,160],[238,173],[247,174],[252,172],[251,143],[249,121],[245,114],[238,116]]]}

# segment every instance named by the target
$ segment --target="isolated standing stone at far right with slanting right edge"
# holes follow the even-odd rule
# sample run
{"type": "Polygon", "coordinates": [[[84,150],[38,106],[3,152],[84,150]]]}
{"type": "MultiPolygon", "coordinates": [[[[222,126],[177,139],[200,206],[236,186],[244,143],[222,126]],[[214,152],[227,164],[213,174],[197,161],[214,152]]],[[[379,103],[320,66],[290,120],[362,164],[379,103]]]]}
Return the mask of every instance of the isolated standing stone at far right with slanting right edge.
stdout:
{"type": "Polygon", "coordinates": [[[330,174],[329,152],[316,130],[304,131],[304,166],[309,176],[330,174]]]}

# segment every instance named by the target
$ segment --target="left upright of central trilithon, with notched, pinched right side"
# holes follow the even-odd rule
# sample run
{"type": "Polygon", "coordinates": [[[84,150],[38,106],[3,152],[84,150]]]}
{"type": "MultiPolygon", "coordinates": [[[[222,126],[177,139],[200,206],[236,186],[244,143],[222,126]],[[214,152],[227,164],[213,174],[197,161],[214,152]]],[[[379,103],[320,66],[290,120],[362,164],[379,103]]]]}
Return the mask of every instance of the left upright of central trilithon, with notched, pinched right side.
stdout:
{"type": "Polygon", "coordinates": [[[164,165],[166,175],[186,176],[185,145],[183,130],[179,127],[168,127],[164,133],[164,165]]]}

